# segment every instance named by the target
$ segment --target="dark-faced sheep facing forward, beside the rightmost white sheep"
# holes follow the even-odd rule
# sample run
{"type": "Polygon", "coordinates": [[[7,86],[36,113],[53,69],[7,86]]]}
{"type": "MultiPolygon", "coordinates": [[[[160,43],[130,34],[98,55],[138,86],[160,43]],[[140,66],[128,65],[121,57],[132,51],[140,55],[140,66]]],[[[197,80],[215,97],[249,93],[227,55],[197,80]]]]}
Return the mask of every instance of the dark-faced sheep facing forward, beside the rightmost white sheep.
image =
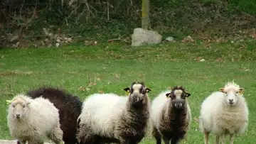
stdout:
{"type": "Polygon", "coordinates": [[[177,144],[185,138],[191,124],[191,109],[186,98],[191,96],[182,86],[161,92],[151,103],[151,134],[156,144],[177,144]]]}

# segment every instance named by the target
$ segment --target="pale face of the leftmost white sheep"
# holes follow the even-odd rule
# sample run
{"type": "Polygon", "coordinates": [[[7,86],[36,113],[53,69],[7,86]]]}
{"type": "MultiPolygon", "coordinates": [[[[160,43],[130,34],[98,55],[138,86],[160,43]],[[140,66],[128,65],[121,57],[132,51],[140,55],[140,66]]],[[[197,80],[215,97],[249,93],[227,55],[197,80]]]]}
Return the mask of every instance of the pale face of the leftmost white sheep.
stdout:
{"type": "Polygon", "coordinates": [[[11,102],[9,106],[9,110],[11,110],[11,114],[15,120],[22,120],[26,118],[28,114],[28,104],[31,102],[27,102],[24,99],[17,98],[11,102]]]}

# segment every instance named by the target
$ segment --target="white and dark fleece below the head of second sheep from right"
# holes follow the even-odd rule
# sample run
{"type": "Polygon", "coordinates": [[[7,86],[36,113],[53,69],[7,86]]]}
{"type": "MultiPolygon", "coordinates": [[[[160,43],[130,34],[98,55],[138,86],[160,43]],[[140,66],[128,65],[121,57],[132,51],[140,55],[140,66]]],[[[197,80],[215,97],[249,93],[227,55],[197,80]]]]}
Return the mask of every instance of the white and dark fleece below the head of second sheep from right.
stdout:
{"type": "Polygon", "coordinates": [[[161,92],[151,104],[151,133],[158,143],[161,143],[161,138],[164,141],[171,140],[171,143],[177,143],[185,138],[191,123],[191,109],[188,101],[182,110],[176,111],[171,104],[171,99],[166,98],[169,92],[161,92]]]}

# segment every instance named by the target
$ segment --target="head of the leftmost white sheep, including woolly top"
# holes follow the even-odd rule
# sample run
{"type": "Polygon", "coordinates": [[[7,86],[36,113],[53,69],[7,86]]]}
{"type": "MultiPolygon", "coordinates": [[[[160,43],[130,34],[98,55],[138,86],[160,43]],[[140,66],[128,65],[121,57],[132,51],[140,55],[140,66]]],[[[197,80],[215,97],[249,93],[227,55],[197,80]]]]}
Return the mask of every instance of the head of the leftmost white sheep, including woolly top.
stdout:
{"type": "Polygon", "coordinates": [[[31,99],[23,94],[18,94],[18,96],[14,97],[11,100],[11,104],[9,104],[9,113],[15,120],[21,120],[26,118],[29,108],[28,105],[31,104],[31,99]]]}

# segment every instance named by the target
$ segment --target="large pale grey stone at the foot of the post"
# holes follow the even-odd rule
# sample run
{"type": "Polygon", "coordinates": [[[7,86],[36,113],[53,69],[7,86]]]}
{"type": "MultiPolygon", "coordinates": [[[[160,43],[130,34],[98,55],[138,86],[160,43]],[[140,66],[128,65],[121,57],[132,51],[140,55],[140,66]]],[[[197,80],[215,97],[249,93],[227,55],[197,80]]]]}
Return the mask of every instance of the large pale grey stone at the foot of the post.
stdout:
{"type": "Polygon", "coordinates": [[[161,39],[162,36],[156,31],[134,28],[134,33],[132,34],[132,46],[154,45],[161,43],[161,39]]]}

